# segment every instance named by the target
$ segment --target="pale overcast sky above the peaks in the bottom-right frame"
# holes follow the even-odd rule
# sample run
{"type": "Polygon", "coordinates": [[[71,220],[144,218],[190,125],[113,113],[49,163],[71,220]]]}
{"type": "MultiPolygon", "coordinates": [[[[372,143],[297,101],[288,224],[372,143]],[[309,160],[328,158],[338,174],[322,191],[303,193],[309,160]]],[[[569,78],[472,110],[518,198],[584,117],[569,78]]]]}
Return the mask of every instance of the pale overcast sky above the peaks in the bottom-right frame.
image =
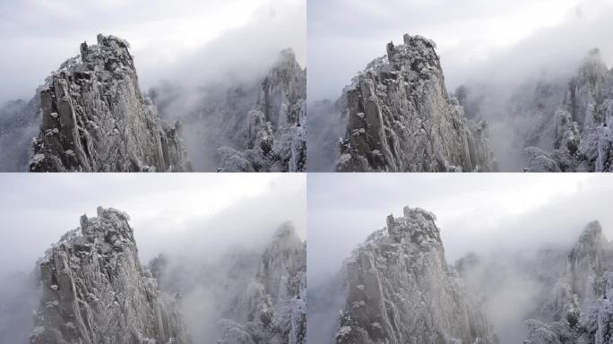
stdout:
{"type": "Polygon", "coordinates": [[[598,219],[613,237],[613,179],[587,174],[310,174],[310,282],[329,277],[405,205],[435,213],[445,254],[490,254],[574,243],[598,219]]]}

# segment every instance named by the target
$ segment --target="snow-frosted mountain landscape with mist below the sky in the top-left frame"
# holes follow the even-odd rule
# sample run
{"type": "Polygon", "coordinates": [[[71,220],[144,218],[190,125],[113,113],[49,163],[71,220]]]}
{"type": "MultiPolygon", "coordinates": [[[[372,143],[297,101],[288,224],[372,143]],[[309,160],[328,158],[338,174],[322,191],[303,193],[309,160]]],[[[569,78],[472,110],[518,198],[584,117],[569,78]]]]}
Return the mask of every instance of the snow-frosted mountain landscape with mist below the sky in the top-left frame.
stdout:
{"type": "Polygon", "coordinates": [[[254,68],[143,94],[129,44],[99,35],[28,103],[0,106],[0,170],[304,171],[306,71],[290,49],[254,68]]]}

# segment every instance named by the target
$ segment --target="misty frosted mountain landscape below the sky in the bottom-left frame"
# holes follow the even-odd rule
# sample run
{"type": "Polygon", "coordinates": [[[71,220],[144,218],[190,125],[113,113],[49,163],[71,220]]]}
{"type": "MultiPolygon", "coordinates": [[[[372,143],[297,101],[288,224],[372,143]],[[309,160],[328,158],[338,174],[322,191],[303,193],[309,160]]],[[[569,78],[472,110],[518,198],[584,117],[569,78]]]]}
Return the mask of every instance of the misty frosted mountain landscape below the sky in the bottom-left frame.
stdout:
{"type": "Polygon", "coordinates": [[[0,341],[303,344],[306,243],[291,223],[264,247],[142,264],[129,216],[99,207],[30,274],[2,284],[0,341]]]}

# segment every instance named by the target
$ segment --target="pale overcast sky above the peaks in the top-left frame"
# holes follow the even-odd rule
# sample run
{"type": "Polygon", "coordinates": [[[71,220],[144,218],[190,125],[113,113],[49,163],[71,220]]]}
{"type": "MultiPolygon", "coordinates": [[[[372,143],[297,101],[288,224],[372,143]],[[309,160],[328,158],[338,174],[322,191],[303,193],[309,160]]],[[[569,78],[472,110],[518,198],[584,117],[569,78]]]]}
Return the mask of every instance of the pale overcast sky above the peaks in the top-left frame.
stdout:
{"type": "Polygon", "coordinates": [[[192,74],[211,76],[272,64],[292,47],[306,64],[305,0],[2,0],[0,103],[30,99],[98,33],[130,42],[144,90],[190,61],[201,63],[192,74]]]}

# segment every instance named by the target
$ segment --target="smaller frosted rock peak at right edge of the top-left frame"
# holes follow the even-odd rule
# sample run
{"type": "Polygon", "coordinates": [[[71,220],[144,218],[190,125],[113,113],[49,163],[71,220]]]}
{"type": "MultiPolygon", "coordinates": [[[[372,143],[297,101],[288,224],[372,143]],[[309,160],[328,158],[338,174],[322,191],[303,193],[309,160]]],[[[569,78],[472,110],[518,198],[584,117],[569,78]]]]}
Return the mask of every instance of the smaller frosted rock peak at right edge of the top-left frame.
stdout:
{"type": "Polygon", "coordinates": [[[246,120],[246,150],[221,147],[220,171],[300,172],[307,166],[307,71],[281,51],[246,120]]]}

